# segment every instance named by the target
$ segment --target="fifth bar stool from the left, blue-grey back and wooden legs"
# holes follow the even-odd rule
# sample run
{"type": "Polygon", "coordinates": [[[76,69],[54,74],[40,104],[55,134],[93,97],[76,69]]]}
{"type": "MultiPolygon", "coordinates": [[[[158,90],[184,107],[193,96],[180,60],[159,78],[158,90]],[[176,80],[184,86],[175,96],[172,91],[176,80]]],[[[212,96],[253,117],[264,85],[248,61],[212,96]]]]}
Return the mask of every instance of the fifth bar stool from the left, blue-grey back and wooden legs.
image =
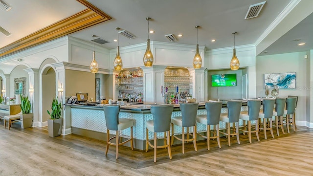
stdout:
{"type": "MultiPolygon", "coordinates": [[[[238,144],[240,144],[239,141],[239,116],[240,111],[242,107],[243,102],[242,101],[227,101],[227,113],[222,113],[220,117],[220,121],[227,123],[226,131],[227,132],[221,132],[222,134],[226,135],[228,137],[228,146],[230,147],[230,136],[237,136],[238,144]],[[233,123],[233,132],[230,133],[230,123],[233,123]],[[235,129],[235,123],[236,125],[236,131],[235,129]]],[[[226,126],[226,125],[225,125],[226,126]]]]}

